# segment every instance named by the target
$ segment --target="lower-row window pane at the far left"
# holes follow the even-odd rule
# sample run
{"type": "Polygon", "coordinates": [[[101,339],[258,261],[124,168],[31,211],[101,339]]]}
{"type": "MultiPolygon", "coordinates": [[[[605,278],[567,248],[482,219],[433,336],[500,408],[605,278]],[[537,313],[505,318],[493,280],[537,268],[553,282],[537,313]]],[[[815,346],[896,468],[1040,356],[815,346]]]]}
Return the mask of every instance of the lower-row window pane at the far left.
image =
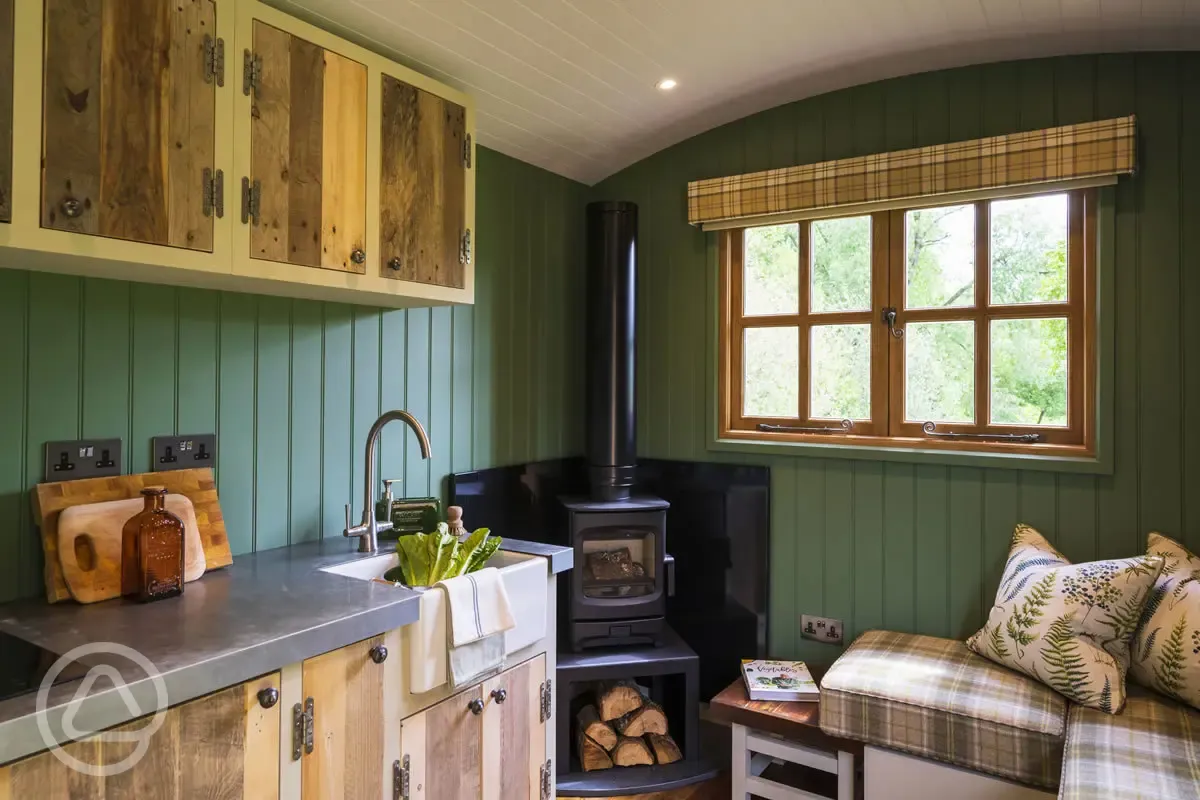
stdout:
{"type": "Polygon", "coordinates": [[[748,327],[743,363],[743,414],[787,416],[800,413],[800,335],[796,327],[748,327]]]}

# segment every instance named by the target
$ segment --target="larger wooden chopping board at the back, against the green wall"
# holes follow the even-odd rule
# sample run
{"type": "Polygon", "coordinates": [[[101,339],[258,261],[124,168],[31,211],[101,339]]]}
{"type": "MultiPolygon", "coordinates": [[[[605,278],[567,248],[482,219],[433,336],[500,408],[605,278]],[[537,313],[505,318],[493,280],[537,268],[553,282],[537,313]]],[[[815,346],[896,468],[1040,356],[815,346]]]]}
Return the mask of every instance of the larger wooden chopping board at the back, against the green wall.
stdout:
{"type": "Polygon", "coordinates": [[[67,588],[66,578],[62,576],[62,564],[59,560],[59,517],[62,516],[62,511],[88,503],[140,500],[139,493],[148,486],[166,487],[168,493],[184,494],[192,501],[206,571],[211,572],[233,564],[229,537],[226,535],[217,487],[210,468],[38,483],[30,494],[34,521],[41,528],[42,551],[46,554],[47,602],[71,600],[71,590],[67,588]]]}

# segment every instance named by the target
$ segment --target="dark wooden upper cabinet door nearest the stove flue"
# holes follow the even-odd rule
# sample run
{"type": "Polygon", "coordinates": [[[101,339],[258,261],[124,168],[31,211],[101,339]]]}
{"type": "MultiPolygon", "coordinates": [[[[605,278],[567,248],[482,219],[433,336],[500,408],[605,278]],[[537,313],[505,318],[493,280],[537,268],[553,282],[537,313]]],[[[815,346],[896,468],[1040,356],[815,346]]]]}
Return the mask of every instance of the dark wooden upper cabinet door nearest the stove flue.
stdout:
{"type": "Polygon", "coordinates": [[[462,288],[467,112],[382,76],[379,273],[462,288]]]}

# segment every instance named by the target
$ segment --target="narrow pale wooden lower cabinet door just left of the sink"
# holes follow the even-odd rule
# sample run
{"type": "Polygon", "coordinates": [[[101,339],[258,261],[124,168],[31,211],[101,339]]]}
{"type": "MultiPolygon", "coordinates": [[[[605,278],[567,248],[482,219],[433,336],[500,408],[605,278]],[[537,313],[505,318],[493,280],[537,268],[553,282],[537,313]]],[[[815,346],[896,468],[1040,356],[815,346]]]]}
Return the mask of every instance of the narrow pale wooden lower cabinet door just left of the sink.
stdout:
{"type": "Polygon", "coordinates": [[[313,750],[301,760],[306,799],[383,796],[384,668],[372,658],[383,642],[377,636],[304,662],[304,694],[313,703],[313,750]]]}

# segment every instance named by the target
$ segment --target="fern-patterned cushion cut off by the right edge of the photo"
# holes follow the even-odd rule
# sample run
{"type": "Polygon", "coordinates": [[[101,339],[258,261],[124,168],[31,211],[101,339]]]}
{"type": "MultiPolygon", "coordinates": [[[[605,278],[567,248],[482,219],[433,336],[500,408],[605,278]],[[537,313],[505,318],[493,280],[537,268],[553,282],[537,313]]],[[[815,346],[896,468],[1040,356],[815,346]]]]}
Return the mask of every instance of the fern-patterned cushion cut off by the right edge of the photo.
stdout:
{"type": "Polygon", "coordinates": [[[1200,557],[1162,534],[1150,535],[1146,552],[1163,559],[1163,572],[1133,639],[1129,676],[1200,709],[1200,557]]]}

